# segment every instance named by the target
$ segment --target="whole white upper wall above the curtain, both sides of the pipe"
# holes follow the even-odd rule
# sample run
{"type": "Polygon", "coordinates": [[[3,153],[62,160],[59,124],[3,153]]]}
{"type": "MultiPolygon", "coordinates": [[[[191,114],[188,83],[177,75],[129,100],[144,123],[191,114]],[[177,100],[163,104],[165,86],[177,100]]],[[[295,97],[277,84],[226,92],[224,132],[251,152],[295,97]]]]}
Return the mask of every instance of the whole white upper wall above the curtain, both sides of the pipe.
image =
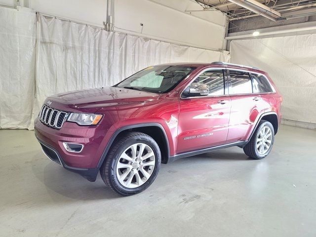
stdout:
{"type": "MultiPolygon", "coordinates": [[[[16,5],[16,0],[0,0],[16,5]]],[[[107,0],[20,0],[21,6],[103,27],[107,0]]],[[[207,49],[225,49],[226,16],[201,10],[193,0],[114,0],[115,30],[207,49]],[[143,29],[140,26],[143,23],[143,29]]]]}

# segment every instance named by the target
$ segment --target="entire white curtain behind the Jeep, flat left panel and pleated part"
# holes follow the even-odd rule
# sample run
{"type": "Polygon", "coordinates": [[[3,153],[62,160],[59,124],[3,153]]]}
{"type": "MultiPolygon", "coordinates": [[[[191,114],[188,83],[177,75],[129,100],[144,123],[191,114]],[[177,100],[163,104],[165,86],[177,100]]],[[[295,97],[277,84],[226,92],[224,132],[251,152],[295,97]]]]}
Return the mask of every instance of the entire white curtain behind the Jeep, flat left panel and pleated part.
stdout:
{"type": "Polygon", "coordinates": [[[0,128],[33,129],[52,94],[113,85],[150,65],[219,60],[228,61],[228,52],[0,7],[0,128]]]}

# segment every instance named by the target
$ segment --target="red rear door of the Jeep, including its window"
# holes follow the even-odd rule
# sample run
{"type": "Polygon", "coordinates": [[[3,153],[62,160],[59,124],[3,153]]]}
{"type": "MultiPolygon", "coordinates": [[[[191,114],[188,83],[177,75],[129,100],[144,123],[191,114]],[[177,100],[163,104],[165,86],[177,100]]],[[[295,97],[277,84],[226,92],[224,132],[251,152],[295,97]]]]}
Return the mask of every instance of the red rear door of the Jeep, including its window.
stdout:
{"type": "Polygon", "coordinates": [[[232,108],[227,142],[231,143],[247,139],[263,106],[261,95],[253,93],[249,72],[230,69],[228,79],[232,108]]]}

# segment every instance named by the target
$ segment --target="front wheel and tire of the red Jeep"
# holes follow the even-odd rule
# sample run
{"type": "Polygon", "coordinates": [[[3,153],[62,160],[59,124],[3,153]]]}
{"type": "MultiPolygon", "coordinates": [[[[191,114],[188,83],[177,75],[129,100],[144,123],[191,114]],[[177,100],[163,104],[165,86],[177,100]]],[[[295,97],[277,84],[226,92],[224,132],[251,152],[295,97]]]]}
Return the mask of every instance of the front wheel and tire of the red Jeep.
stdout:
{"type": "Polygon", "coordinates": [[[152,137],[141,132],[128,132],[114,142],[100,174],[113,191],[130,196],[143,192],[154,182],[160,163],[160,149],[152,137]]]}

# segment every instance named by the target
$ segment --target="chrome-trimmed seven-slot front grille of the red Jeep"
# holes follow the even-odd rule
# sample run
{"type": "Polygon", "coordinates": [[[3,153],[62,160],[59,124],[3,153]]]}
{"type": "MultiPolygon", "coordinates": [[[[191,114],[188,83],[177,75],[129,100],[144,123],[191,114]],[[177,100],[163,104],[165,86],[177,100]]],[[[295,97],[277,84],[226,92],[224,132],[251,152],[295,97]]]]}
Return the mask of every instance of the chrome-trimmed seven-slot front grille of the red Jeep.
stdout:
{"type": "Polygon", "coordinates": [[[48,126],[60,129],[63,125],[65,118],[67,116],[66,112],[55,110],[43,105],[40,109],[40,121],[48,126]]]}

